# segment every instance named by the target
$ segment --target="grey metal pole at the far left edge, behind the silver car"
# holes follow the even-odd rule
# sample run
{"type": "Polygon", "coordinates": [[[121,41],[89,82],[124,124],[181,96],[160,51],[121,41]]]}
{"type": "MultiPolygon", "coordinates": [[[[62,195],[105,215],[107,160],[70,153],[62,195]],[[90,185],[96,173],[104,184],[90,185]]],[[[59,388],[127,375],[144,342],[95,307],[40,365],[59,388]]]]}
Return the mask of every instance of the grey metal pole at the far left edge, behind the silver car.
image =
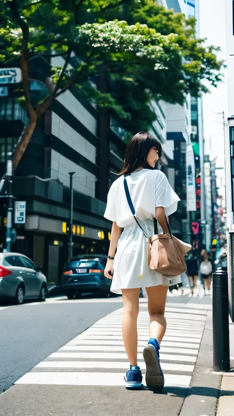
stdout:
{"type": "Polygon", "coordinates": [[[12,195],[12,160],[7,160],[6,182],[8,186],[8,207],[7,207],[7,222],[6,222],[6,252],[11,251],[12,238],[12,211],[13,211],[13,195],[12,195]]]}

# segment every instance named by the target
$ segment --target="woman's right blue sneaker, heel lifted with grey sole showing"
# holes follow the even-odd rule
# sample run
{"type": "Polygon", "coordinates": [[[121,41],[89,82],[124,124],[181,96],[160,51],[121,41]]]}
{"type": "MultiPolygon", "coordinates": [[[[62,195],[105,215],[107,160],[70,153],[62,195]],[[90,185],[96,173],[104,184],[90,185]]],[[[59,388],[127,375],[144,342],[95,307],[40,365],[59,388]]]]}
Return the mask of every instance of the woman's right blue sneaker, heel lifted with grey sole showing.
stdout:
{"type": "Polygon", "coordinates": [[[143,357],[146,363],[146,385],[149,390],[162,391],[164,376],[159,361],[159,343],[156,338],[151,338],[144,348],[143,357]]]}

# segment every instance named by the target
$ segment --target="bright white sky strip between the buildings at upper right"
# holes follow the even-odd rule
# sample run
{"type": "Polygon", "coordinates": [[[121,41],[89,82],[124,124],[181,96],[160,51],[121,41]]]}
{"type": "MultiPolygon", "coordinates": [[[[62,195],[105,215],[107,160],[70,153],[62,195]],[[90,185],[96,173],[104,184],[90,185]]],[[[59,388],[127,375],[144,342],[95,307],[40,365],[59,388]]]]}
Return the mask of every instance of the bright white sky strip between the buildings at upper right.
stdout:
{"type": "MultiPolygon", "coordinates": [[[[207,45],[220,46],[221,51],[218,58],[226,61],[226,23],[225,23],[225,1],[222,0],[200,0],[200,37],[207,38],[207,45]],[[222,6],[221,6],[222,3],[222,6]]],[[[224,167],[224,131],[223,119],[219,114],[211,112],[225,112],[228,114],[228,85],[227,70],[224,74],[223,83],[217,88],[210,87],[210,94],[203,95],[203,122],[205,138],[205,154],[216,159],[217,167],[224,167]]],[[[217,177],[224,178],[224,169],[216,171],[217,177]]],[[[224,179],[218,181],[218,185],[224,185],[224,179]]]]}

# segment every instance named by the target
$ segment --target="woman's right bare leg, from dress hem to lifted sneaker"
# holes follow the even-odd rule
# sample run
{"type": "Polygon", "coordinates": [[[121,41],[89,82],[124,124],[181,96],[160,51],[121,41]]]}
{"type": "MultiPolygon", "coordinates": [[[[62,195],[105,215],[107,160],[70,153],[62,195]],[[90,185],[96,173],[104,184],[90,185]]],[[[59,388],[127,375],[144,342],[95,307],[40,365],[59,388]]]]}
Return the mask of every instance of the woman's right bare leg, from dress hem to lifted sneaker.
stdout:
{"type": "Polygon", "coordinates": [[[160,344],[166,331],[164,312],[168,286],[148,287],[146,291],[150,315],[150,338],[156,338],[160,344]]]}

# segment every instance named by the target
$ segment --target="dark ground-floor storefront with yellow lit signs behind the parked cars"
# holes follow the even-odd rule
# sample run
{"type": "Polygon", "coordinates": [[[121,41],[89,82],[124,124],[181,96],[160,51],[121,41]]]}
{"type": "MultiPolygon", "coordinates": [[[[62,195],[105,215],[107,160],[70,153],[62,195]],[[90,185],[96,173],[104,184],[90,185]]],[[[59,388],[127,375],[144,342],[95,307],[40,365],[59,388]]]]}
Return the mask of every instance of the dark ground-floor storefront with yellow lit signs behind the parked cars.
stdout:
{"type": "MultiPolygon", "coordinates": [[[[5,246],[5,224],[1,217],[0,251],[5,246]]],[[[73,255],[108,253],[110,232],[107,230],[73,226],[73,255]]],[[[12,251],[28,256],[36,265],[43,266],[48,283],[60,284],[62,270],[68,259],[67,223],[38,215],[29,215],[25,226],[17,227],[17,240],[12,251]]]]}

